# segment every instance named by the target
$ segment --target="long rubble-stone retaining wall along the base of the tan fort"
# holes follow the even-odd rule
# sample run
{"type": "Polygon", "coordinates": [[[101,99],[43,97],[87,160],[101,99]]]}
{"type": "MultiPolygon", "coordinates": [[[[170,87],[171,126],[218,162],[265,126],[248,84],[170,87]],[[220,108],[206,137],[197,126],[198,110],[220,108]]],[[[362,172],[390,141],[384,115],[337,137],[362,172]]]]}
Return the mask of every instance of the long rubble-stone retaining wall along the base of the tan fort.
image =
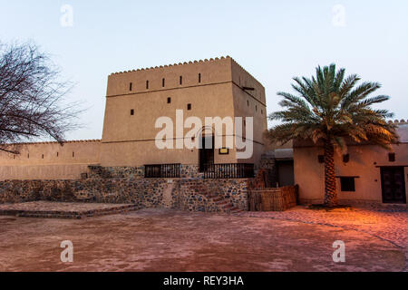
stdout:
{"type": "Polygon", "coordinates": [[[219,212],[221,200],[247,210],[247,183],[248,179],[6,180],[0,182],[0,204],[81,201],[219,212]]]}

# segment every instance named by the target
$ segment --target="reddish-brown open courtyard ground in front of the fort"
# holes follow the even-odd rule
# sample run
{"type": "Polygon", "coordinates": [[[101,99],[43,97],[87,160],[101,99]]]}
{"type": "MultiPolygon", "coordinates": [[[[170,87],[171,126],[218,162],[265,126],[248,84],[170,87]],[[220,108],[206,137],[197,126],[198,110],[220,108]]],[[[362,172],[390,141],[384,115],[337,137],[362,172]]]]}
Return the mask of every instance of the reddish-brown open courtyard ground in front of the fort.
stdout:
{"type": "Polygon", "coordinates": [[[406,218],[302,208],[240,216],[143,209],[81,220],[0,217],[0,271],[402,271],[406,218]],[[60,261],[63,240],[73,241],[73,264],[60,261]],[[344,264],[332,260],[335,240],[345,241],[344,264]]]}

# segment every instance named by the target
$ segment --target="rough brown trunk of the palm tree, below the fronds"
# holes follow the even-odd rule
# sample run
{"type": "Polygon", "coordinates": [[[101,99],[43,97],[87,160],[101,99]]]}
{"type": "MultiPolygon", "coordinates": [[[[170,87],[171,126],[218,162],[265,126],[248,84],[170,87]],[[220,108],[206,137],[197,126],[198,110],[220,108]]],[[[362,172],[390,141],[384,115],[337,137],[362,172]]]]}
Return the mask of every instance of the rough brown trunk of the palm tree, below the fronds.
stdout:
{"type": "Polygon", "coordinates": [[[325,141],[325,206],[338,206],[335,188],[335,149],[330,141],[325,141]]]}

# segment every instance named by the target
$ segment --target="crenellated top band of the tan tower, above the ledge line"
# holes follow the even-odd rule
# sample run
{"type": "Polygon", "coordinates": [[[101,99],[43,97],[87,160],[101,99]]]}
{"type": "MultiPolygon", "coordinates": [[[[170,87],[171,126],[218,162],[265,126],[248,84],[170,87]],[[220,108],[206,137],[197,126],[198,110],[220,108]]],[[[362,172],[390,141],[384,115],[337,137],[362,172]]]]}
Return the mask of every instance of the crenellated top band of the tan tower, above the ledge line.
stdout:
{"type": "Polygon", "coordinates": [[[106,95],[116,97],[226,82],[233,82],[241,88],[254,88],[254,97],[265,102],[262,84],[230,56],[112,73],[106,95]]]}

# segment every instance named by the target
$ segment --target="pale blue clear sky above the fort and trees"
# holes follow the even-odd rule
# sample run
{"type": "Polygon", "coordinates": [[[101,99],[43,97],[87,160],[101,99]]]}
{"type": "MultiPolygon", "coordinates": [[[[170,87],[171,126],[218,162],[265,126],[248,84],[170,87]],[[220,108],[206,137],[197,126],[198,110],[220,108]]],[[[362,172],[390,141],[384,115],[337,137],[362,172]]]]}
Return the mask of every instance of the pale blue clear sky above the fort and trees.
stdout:
{"type": "Polygon", "coordinates": [[[382,83],[382,107],[408,118],[406,0],[0,0],[0,27],[0,42],[36,43],[75,83],[68,98],[88,110],[68,140],[101,139],[110,73],[227,55],[265,86],[268,112],[293,77],[335,63],[382,83]]]}

